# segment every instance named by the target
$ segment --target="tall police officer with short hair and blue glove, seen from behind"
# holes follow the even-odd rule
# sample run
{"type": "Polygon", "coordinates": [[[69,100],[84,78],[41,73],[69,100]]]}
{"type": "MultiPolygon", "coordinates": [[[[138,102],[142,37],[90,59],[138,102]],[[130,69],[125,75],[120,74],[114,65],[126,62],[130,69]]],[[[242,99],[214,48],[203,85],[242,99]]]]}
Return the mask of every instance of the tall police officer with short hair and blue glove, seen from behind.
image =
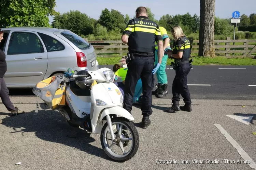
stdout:
{"type": "Polygon", "coordinates": [[[159,68],[162,55],[163,43],[158,25],[148,19],[147,9],[138,7],[136,18],[129,21],[122,35],[123,43],[127,44],[127,75],[125,79],[124,108],[131,113],[132,100],[135,86],[139,78],[142,80],[143,102],[142,128],[147,128],[151,124],[149,116],[152,114],[152,90],[154,86],[154,73],[159,68]],[[158,45],[158,63],[154,68],[155,42],[158,45]]]}

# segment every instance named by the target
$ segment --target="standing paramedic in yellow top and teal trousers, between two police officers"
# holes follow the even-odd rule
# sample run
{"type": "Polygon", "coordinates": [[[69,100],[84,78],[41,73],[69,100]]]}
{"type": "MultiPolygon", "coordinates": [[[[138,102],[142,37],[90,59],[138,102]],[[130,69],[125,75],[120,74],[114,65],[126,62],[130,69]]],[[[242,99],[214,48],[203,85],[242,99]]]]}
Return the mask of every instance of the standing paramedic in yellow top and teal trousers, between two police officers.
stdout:
{"type": "MultiPolygon", "coordinates": [[[[170,43],[169,43],[170,38],[169,38],[169,36],[167,34],[166,29],[163,28],[163,27],[159,27],[159,30],[161,32],[162,39],[163,39],[163,50],[171,50],[170,43]]],[[[157,59],[158,59],[158,56],[157,56],[157,51],[158,51],[157,43],[155,43],[155,48],[156,48],[156,52],[155,52],[155,57],[156,57],[155,65],[156,65],[157,64],[157,59]]],[[[167,91],[168,91],[167,90],[168,81],[167,81],[167,75],[166,75],[166,72],[165,72],[167,58],[168,58],[168,55],[165,52],[164,55],[163,55],[163,58],[162,58],[162,63],[160,65],[159,69],[156,72],[156,76],[157,76],[157,80],[158,80],[158,85],[157,85],[157,89],[155,91],[155,95],[158,98],[162,98],[165,95],[167,95],[167,91]]]]}

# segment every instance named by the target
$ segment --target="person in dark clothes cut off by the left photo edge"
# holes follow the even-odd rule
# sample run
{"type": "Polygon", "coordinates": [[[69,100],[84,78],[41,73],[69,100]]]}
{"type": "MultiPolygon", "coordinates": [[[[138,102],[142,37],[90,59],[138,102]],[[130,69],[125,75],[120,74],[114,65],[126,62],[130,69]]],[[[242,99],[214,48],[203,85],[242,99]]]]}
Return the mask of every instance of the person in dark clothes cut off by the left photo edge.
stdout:
{"type": "MultiPolygon", "coordinates": [[[[3,40],[3,31],[0,29],[0,42],[3,40]]],[[[17,114],[22,114],[24,111],[20,111],[18,107],[14,107],[9,97],[9,90],[4,81],[4,74],[7,70],[7,65],[5,61],[5,54],[0,50],[0,97],[1,100],[8,111],[11,112],[11,116],[17,114]]]]}

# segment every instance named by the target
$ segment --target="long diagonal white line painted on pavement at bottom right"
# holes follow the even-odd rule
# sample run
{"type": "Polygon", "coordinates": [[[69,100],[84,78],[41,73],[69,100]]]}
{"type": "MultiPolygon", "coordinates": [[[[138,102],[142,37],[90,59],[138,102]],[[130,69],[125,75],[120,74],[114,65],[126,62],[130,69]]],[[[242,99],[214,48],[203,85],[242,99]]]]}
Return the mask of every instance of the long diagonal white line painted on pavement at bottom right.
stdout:
{"type": "Polygon", "coordinates": [[[216,128],[219,129],[219,131],[225,136],[225,138],[229,141],[229,143],[231,143],[231,145],[237,149],[238,153],[241,155],[241,157],[244,160],[248,160],[250,161],[250,163],[248,163],[248,165],[254,169],[256,169],[256,164],[255,162],[253,162],[252,158],[247,155],[247,153],[240,147],[240,145],[238,145],[238,143],[227,133],[227,131],[225,129],[222,128],[222,126],[220,124],[214,124],[216,126],[216,128]]]}

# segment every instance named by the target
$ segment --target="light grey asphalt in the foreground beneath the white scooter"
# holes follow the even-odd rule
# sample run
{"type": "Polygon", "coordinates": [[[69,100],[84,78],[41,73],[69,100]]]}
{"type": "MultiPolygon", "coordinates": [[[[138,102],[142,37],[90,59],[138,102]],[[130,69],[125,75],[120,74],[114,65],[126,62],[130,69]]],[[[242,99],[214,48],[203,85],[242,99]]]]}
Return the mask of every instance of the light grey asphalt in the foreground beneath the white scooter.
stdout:
{"type": "Polygon", "coordinates": [[[1,170],[256,169],[256,135],[252,134],[256,132],[254,101],[193,99],[192,112],[170,114],[163,112],[170,107],[170,99],[153,99],[152,123],[148,129],[140,128],[141,111],[133,107],[139,150],[131,160],[116,163],[103,152],[100,135],[70,138],[74,128],[58,112],[43,107],[40,100],[40,110],[35,113],[35,99],[12,96],[15,106],[27,112],[14,117],[9,117],[1,104],[0,119],[4,121],[0,124],[1,170]],[[243,123],[226,115],[254,118],[243,123]],[[157,159],[169,160],[169,164],[160,164],[157,159]],[[193,163],[195,159],[204,162],[193,163]],[[171,160],[179,162],[172,164],[171,160]],[[250,160],[250,164],[242,163],[245,160],[250,160]],[[19,162],[20,165],[15,165],[19,162]]]}

